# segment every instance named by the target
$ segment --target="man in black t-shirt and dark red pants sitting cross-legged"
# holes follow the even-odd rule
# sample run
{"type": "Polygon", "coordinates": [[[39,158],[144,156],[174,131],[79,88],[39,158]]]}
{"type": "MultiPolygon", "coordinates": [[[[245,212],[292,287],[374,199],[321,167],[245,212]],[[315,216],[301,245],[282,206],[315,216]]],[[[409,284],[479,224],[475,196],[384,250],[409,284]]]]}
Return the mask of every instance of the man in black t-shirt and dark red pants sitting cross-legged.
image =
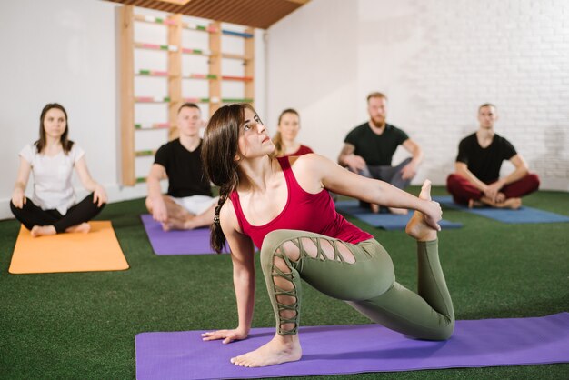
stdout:
{"type": "Polygon", "coordinates": [[[497,119],[494,105],[481,105],[478,131],[458,145],[455,172],[446,179],[446,188],[457,204],[516,209],[522,205],[523,195],[533,193],[539,187],[539,177],[529,173],[524,158],[515,151],[514,145],[494,133],[497,119]],[[500,178],[504,160],[509,160],[515,170],[500,178]]]}

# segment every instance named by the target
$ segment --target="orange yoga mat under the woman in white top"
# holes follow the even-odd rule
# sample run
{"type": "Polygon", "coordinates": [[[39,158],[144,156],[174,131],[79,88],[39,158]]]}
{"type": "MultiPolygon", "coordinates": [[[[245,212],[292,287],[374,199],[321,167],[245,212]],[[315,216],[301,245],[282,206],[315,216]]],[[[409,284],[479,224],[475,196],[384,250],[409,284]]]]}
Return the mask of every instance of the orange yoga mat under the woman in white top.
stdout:
{"type": "Polygon", "coordinates": [[[32,237],[24,225],[15,242],[8,272],[59,273],[128,269],[110,221],[89,222],[88,234],[32,237]]]}

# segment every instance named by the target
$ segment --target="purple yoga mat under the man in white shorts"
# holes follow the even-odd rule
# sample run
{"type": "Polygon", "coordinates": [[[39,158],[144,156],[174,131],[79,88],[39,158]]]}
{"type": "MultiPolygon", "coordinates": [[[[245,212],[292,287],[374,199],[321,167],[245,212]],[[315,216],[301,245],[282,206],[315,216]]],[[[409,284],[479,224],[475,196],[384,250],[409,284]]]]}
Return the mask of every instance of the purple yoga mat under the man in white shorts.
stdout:
{"type": "Polygon", "coordinates": [[[168,231],[156,222],[152,215],[140,215],[146,235],[156,255],[204,255],[214,254],[209,245],[209,228],[187,231],[168,231]]]}

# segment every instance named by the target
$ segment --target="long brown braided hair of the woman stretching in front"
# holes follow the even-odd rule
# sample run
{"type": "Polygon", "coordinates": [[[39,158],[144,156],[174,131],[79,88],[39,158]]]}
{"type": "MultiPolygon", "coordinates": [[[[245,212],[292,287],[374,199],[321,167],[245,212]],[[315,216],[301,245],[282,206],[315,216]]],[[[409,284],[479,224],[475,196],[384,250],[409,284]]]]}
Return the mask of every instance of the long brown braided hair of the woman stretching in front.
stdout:
{"type": "Polygon", "coordinates": [[[219,223],[219,210],[232,191],[239,185],[235,157],[239,155],[239,130],[245,122],[245,108],[255,114],[247,104],[224,105],[209,119],[202,143],[202,161],[209,180],[219,186],[219,201],[215,207],[211,226],[210,244],[218,254],[225,247],[225,235],[219,223]]]}

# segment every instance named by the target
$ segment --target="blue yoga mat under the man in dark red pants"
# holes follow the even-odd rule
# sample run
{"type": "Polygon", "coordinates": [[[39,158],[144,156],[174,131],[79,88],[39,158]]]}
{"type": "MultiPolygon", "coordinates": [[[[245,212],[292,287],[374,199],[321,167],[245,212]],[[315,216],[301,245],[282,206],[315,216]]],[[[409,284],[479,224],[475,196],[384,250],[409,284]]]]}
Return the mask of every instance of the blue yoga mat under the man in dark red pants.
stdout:
{"type": "Polygon", "coordinates": [[[497,220],[502,223],[523,224],[523,223],[561,223],[569,222],[569,216],[550,213],[549,211],[538,210],[537,208],[523,205],[517,210],[494,207],[468,208],[465,205],[457,205],[451,195],[434,196],[434,201],[457,210],[466,211],[475,215],[484,216],[497,220]]]}

